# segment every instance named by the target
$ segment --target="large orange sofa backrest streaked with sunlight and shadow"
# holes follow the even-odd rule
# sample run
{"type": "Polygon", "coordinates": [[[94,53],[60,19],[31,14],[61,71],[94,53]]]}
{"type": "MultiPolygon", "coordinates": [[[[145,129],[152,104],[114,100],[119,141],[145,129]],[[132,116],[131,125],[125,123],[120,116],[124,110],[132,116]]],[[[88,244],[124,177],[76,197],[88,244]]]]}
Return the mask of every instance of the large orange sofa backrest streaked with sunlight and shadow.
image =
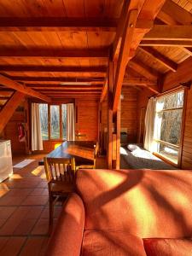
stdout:
{"type": "Polygon", "coordinates": [[[81,170],[85,230],[122,230],[140,237],[186,237],[192,230],[192,172],[81,170]]]}

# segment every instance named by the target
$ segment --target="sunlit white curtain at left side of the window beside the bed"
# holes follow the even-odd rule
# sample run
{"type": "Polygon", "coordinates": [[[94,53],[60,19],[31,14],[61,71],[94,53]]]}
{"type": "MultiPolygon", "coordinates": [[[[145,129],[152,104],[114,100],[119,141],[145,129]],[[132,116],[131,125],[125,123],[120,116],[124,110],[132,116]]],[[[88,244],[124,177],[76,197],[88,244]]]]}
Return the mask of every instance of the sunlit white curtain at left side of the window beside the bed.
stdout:
{"type": "Polygon", "coordinates": [[[148,100],[148,107],[145,114],[145,139],[144,148],[150,152],[154,151],[154,118],[155,118],[156,99],[154,97],[148,100]]]}

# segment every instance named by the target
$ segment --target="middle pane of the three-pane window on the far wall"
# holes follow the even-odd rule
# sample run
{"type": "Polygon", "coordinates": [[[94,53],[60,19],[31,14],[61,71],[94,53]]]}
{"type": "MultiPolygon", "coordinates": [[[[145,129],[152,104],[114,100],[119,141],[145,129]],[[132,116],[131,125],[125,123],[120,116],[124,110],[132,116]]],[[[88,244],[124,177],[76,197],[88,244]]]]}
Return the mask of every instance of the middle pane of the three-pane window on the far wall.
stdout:
{"type": "Polygon", "coordinates": [[[60,138],[60,106],[50,106],[50,138],[60,138]]]}

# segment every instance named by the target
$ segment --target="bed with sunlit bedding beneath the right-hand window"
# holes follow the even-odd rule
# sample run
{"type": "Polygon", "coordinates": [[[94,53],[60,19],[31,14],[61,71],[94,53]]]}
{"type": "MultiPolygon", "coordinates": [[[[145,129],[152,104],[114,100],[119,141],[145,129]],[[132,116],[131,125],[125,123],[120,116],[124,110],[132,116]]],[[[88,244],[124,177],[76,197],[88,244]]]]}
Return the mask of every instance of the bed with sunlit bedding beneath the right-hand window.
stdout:
{"type": "Polygon", "coordinates": [[[163,160],[145,150],[140,144],[131,144],[131,150],[120,147],[121,169],[153,169],[153,170],[175,170],[176,167],[167,164],[163,160]]]}

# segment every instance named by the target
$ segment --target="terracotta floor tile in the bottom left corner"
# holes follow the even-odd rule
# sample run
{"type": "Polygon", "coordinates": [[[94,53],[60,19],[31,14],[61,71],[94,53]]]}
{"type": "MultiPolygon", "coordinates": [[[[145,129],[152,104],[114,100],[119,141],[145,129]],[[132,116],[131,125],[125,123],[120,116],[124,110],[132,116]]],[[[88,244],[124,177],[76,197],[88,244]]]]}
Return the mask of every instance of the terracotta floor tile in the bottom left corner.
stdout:
{"type": "Polygon", "coordinates": [[[25,237],[10,237],[3,248],[1,248],[0,255],[17,256],[25,241],[25,237]]]}

